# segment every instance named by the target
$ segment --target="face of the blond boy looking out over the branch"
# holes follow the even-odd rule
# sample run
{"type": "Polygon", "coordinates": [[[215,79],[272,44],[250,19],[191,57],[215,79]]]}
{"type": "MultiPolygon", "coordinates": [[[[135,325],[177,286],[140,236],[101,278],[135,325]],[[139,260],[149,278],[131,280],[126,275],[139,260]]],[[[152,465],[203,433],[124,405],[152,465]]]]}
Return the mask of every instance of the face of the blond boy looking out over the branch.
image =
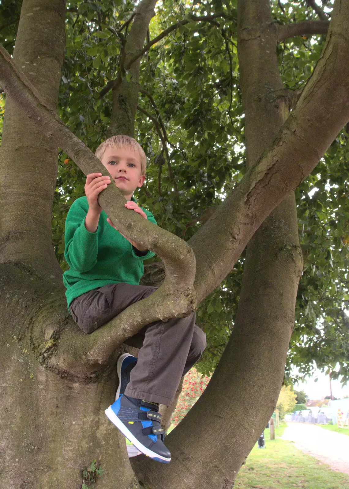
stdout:
{"type": "Polygon", "coordinates": [[[141,159],[138,153],[124,148],[107,148],[100,161],[108,170],[126,200],[130,200],[137,187],[142,187],[141,159]]]}

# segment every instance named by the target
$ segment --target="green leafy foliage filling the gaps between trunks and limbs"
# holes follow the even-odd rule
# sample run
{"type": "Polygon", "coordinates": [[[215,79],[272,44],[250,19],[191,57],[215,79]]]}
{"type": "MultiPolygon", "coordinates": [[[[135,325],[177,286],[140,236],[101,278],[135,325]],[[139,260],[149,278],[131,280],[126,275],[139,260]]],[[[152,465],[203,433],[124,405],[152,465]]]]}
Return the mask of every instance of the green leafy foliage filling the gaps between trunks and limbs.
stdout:
{"type": "MultiPolygon", "coordinates": [[[[131,0],[71,0],[67,8],[58,114],[92,150],[106,138],[110,121],[112,94],[109,91],[100,97],[100,91],[115,79],[120,68],[122,40],[115,30],[125,24],[135,4],[131,0]]],[[[329,13],[332,4],[326,2],[329,13]]],[[[271,5],[276,23],[317,18],[307,2],[273,0],[271,5]]],[[[17,0],[0,4],[0,23],[5,26],[0,30],[0,41],[10,52],[20,6],[17,0]]],[[[154,125],[150,117],[137,112],[135,137],[145,149],[149,166],[146,184],[136,197],[153,212],[160,226],[185,240],[245,172],[245,121],[234,20],[237,0],[163,0],[150,22],[151,39],[189,14],[220,13],[229,18],[191,21],[173,30],[150,48],[140,67],[143,91],[139,107],[159,121],[160,114],[166,133],[161,124],[154,125]]],[[[286,88],[304,87],[323,46],[324,36],[296,37],[278,44],[278,63],[286,88]]],[[[304,271],[286,382],[294,377],[293,366],[299,367],[298,377],[318,367],[331,369],[332,378],[349,378],[349,319],[345,312],[349,301],[348,140],[347,127],[296,192],[304,271]]],[[[63,270],[67,267],[65,218],[84,188],[82,172],[67,159],[60,151],[52,209],[52,240],[63,270]]],[[[213,372],[234,326],[243,263],[244,255],[220,287],[199,305],[197,322],[206,333],[208,347],[198,368],[206,376],[213,372]]]]}

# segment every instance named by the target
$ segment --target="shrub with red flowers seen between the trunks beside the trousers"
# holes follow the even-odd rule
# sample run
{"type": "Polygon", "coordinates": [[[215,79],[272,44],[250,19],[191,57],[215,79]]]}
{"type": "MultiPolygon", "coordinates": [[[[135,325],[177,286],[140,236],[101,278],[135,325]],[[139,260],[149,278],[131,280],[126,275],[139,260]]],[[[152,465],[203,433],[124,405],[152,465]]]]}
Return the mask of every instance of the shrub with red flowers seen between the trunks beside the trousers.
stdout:
{"type": "Polygon", "coordinates": [[[207,376],[201,378],[196,368],[189,370],[184,377],[182,392],[178,398],[171,424],[177,425],[184,418],[205,390],[209,380],[207,376]]]}

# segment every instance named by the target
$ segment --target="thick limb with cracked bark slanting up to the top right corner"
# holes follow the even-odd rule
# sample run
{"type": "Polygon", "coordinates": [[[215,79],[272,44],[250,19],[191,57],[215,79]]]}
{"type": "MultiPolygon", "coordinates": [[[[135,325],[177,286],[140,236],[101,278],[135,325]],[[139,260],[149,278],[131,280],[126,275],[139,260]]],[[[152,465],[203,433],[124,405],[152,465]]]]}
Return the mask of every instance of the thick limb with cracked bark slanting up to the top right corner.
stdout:
{"type": "MultiPolygon", "coordinates": [[[[233,248],[234,250],[235,248],[241,249],[249,238],[246,242],[244,238],[243,244],[237,244],[236,241],[240,241],[241,236],[245,236],[245,233],[248,233],[249,237],[253,235],[257,228],[252,225],[253,230],[251,229],[251,233],[249,233],[251,222],[255,222],[255,219],[259,221],[261,209],[270,209],[271,196],[274,200],[278,194],[277,205],[289,192],[295,190],[302,179],[306,178],[317,165],[336,135],[349,120],[348,2],[337,0],[335,10],[337,10],[337,14],[335,19],[334,14],[332,14],[322,56],[303,89],[295,109],[291,112],[268,150],[246,173],[234,191],[218,207],[212,218],[201,226],[188,241],[194,249],[197,260],[194,286],[198,302],[209,293],[208,291],[217,287],[231,270],[236,261],[235,257],[230,261],[231,253],[235,254],[233,248]],[[273,160],[275,167],[272,163],[273,160]],[[269,171],[264,167],[264,164],[269,164],[267,161],[272,163],[274,167],[270,180],[267,177],[269,171]],[[265,170],[262,170],[260,165],[265,170]],[[258,167],[259,170],[257,170],[258,167]],[[286,167],[289,168],[288,172],[286,167]],[[262,180],[258,183],[258,186],[261,185],[260,190],[257,191],[258,196],[255,194],[258,207],[254,207],[253,204],[254,210],[252,210],[247,196],[248,194],[252,196],[257,189],[253,184],[253,189],[244,189],[247,181],[250,178],[253,179],[252,174],[255,171],[260,171],[261,178],[266,179],[264,183],[262,180]],[[298,183],[296,182],[297,179],[298,183]],[[278,190],[274,187],[276,180],[279,180],[280,187],[278,190]],[[273,181],[274,183],[272,183],[273,181]],[[270,192],[268,201],[262,197],[263,194],[265,197],[267,196],[265,193],[267,188],[270,192]],[[240,192],[246,196],[241,196],[241,201],[237,195],[240,192]],[[244,215],[243,220],[238,217],[241,205],[242,207],[248,205],[251,211],[249,217],[249,212],[244,215]],[[219,223],[221,227],[219,227],[219,223]],[[202,246],[202,243],[205,245],[202,246]],[[217,243],[224,243],[220,252],[217,250],[217,243]]],[[[268,210],[265,217],[270,212],[271,210],[268,210]]]]}

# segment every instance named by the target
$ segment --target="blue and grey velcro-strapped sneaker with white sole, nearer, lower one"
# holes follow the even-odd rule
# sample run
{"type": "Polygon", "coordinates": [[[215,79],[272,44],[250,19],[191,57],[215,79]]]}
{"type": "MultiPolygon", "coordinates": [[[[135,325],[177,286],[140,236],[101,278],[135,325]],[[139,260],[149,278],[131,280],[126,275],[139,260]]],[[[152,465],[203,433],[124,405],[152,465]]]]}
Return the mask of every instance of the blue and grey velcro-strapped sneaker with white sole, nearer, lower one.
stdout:
{"type": "Polygon", "coordinates": [[[168,464],[171,453],[164,445],[159,405],[145,400],[134,400],[136,405],[123,394],[108,409],[106,416],[141,453],[168,464]]]}

